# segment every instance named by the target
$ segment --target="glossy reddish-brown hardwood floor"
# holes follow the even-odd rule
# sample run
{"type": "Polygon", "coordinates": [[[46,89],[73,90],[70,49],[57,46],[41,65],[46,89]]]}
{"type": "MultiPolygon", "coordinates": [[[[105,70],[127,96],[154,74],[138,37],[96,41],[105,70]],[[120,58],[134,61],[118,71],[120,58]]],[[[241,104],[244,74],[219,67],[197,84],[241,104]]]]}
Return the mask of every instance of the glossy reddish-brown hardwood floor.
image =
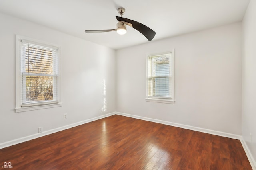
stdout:
{"type": "Polygon", "coordinates": [[[0,169],[4,162],[13,170],[252,170],[239,140],[120,115],[0,149],[0,169]]]}

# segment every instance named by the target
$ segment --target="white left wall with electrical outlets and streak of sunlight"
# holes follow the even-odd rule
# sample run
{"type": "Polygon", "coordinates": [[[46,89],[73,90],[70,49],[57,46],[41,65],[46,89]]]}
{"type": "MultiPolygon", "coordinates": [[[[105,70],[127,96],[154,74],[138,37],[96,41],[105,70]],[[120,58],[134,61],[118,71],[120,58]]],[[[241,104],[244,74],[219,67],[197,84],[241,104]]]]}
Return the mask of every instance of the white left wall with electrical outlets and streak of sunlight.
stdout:
{"type": "Polygon", "coordinates": [[[48,131],[116,110],[115,50],[4,14],[0,25],[0,143],[36,134],[38,127],[48,131]],[[15,112],[16,34],[60,45],[62,107],[15,112]]]}

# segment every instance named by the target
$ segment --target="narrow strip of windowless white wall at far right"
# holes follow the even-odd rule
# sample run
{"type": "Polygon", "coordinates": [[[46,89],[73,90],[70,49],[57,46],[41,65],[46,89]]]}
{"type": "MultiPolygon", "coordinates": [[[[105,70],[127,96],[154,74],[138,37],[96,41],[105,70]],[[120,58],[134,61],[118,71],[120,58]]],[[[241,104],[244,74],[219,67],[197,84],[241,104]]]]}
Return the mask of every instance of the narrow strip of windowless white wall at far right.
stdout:
{"type": "Polygon", "coordinates": [[[243,20],[242,137],[256,166],[256,2],[251,0],[243,20]],[[250,139],[250,133],[252,139],[250,139]]]}

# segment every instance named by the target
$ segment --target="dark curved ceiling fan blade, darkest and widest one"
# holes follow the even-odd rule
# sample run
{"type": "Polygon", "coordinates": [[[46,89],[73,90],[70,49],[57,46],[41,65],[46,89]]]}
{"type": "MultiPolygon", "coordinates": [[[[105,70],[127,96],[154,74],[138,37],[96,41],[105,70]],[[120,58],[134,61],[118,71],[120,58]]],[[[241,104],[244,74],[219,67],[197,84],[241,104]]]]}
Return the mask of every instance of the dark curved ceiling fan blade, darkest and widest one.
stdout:
{"type": "Polygon", "coordinates": [[[148,41],[151,41],[154,38],[154,36],[156,35],[155,31],[153,31],[146,25],[143,25],[142,23],[139,23],[134,20],[130,20],[128,18],[119,17],[119,16],[116,16],[116,19],[120,22],[124,22],[124,23],[126,22],[126,23],[132,24],[132,27],[134,29],[137,29],[140,33],[142,33],[148,39],[148,41]]]}

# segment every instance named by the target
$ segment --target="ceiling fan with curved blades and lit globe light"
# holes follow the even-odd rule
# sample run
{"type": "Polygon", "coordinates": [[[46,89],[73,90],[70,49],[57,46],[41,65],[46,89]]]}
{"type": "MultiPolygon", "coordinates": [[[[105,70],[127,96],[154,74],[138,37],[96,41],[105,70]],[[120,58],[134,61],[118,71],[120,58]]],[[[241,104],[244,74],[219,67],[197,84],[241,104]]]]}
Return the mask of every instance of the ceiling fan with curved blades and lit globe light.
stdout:
{"type": "Polygon", "coordinates": [[[126,33],[126,25],[133,27],[140,33],[142,33],[148,41],[151,41],[154,36],[156,35],[156,32],[147,27],[146,25],[143,25],[142,23],[139,23],[134,20],[130,20],[128,18],[123,18],[123,14],[125,12],[124,8],[118,8],[118,13],[121,15],[121,17],[116,16],[116,19],[118,20],[118,23],[116,24],[116,29],[105,29],[105,30],[85,30],[86,33],[103,33],[103,32],[111,32],[111,31],[117,31],[118,34],[122,35],[126,33]]]}

